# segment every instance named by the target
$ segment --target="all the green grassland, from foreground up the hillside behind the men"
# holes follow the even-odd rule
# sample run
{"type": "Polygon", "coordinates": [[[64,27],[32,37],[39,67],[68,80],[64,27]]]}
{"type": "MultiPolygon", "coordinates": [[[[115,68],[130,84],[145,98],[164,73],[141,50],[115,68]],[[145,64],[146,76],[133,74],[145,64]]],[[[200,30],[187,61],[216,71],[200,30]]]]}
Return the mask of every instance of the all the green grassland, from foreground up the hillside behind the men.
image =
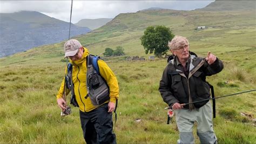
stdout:
{"type": "MultiPolygon", "coordinates": [[[[223,60],[224,70],[207,78],[218,97],[255,89],[255,17],[253,12],[141,11],[119,15],[77,39],[92,54],[102,55],[106,47],[122,46],[126,56],[147,58],[139,40],[145,28],[169,26],[174,34],[190,40],[192,52],[206,56],[211,51],[223,60]],[[208,28],[195,30],[201,25],[208,28]]],[[[70,116],[60,117],[56,102],[66,64],[61,62],[63,45],[60,42],[37,47],[1,59],[0,143],[84,143],[78,109],[72,107],[70,116]]],[[[179,133],[175,120],[166,124],[167,104],[158,92],[166,59],[124,58],[104,57],[120,87],[117,142],[176,143],[179,133]],[[136,122],[138,119],[141,121],[136,122]]],[[[256,92],[250,92],[216,100],[217,118],[213,121],[219,143],[256,142],[255,96],[256,92]]]]}

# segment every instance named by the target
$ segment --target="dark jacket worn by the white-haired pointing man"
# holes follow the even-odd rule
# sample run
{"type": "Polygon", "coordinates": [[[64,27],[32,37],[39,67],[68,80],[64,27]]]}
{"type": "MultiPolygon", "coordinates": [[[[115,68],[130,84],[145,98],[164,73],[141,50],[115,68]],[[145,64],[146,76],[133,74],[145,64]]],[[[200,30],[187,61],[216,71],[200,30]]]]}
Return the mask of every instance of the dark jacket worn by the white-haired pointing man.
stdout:
{"type": "MultiPolygon", "coordinates": [[[[210,65],[203,57],[191,55],[189,64],[188,78],[184,75],[182,69],[178,69],[177,57],[169,61],[163,72],[159,91],[164,102],[170,107],[174,103],[183,104],[210,98],[210,87],[206,82],[206,76],[217,74],[223,69],[223,62],[218,58],[210,65]],[[191,100],[189,100],[190,98],[191,100]]],[[[195,103],[192,107],[199,108],[207,102],[208,100],[195,103]]],[[[186,105],[185,108],[188,108],[188,106],[186,105]]]]}

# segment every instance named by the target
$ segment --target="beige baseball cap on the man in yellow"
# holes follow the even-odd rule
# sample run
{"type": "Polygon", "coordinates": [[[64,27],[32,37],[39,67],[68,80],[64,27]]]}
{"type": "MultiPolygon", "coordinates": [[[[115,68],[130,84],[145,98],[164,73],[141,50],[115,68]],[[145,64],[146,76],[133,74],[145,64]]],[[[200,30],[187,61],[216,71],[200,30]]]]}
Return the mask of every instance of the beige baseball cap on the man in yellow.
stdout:
{"type": "Polygon", "coordinates": [[[83,47],[78,40],[70,39],[64,44],[65,57],[74,56],[83,47]]]}

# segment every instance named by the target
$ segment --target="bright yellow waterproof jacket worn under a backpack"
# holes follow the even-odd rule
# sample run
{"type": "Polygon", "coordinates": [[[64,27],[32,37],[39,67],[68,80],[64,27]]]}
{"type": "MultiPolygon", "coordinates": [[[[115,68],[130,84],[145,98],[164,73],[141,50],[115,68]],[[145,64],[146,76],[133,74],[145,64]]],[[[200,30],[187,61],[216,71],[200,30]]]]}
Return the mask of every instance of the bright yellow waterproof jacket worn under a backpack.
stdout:
{"type": "MultiPolygon", "coordinates": [[[[86,86],[86,56],[89,55],[88,50],[84,47],[84,54],[82,56],[82,59],[71,61],[72,64],[72,82],[74,87],[74,92],[76,96],[77,103],[79,105],[80,111],[83,112],[89,112],[93,109],[96,109],[97,107],[94,106],[91,102],[91,99],[87,97],[85,99],[85,96],[87,95],[87,86],[86,86]]],[[[103,60],[98,60],[98,66],[99,66],[99,73],[100,75],[105,79],[107,82],[107,85],[109,85],[110,89],[110,100],[107,100],[107,102],[113,102],[116,103],[116,99],[119,97],[119,87],[117,78],[114,75],[113,71],[107,66],[107,64],[103,60]]],[[[67,70],[66,70],[67,71],[67,70]]],[[[60,85],[57,99],[62,98],[63,92],[64,92],[64,82],[65,78],[63,78],[62,84],[60,85]]],[[[69,89],[66,90],[66,95],[70,92],[69,89]]]]}

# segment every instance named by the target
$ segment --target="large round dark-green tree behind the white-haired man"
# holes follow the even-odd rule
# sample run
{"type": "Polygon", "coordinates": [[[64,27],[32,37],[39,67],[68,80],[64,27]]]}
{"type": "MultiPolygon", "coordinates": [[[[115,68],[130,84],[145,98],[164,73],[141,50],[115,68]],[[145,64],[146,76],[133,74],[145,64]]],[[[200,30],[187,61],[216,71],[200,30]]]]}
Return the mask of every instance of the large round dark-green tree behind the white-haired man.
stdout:
{"type": "Polygon", "coordinates": [[[169,27],[165,26],[149,26],[144,31],[144,35],[140,38],[142,45],[145,49],[145,53],[152,54],[157,57],[161,57],[167,54],[169,47],[168,41],[172,40],[174,34],[169,27]]]}

